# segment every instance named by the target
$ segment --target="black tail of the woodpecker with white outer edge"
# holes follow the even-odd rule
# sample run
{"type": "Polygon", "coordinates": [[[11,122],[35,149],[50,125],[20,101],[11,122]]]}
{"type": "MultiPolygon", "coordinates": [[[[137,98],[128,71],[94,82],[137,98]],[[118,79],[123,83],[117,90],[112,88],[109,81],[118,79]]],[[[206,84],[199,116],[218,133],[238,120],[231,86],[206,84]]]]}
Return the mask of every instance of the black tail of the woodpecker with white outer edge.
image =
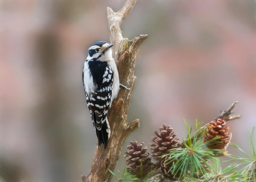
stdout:
{"type": "MultiPolygon", "coordinates": [[[[95,121],[96,121],[96,119],[95,119],[95,121]]],[[[96,134],[98,137],[98,146],[100,146],[101,144],[104,144],[104,148],[106,148],[107,144],[108,144],[108,139],[110,137],[110,127],[109,127],[107,118],[100,130],[98,130],[96,128],[96,134]]]]}

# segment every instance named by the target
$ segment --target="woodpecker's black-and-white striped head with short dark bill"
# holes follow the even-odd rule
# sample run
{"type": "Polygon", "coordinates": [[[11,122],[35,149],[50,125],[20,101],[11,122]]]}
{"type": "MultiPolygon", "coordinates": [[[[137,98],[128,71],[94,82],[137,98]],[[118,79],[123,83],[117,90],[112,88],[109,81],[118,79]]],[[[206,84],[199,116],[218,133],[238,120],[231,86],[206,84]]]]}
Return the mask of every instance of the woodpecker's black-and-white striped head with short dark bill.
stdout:
{"type": "Polygon", "coordinates": [[[110,61],[112,58],[111,47],[114,44],[109,44],[105,41],[99,41],[91,45],[88,49],[87,60],[97,59],[99,61],[110,61]]]}

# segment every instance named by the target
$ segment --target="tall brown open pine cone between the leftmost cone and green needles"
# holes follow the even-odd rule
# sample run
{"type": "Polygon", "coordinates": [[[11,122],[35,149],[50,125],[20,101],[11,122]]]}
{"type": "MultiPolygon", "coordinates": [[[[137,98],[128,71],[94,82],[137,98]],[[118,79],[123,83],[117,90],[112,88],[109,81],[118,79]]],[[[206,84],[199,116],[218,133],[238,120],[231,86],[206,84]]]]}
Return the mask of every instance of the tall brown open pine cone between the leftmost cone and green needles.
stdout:
{"type": "Polygon", "coordinates": [[[152,141],[156,144],[150,144],[150,152],[155,160],[161,162],[164,160],[161,158],[162,155],[168,154],[169,149],[179,148],[180,144],[179,139],[175,138],[177,135],[171,126],[163,124],[163,126],[159,126],[158,129],[160,130],[160,134],[154,131],[153,133],[155,133],[157,137],[151,136],[152,141]]]}

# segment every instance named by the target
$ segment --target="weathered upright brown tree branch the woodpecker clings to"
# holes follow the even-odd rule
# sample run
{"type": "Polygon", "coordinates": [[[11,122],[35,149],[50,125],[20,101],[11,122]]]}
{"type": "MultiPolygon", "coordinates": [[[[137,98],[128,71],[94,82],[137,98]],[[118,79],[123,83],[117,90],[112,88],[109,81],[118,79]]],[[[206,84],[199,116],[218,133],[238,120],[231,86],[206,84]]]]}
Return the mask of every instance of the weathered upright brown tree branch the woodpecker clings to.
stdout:
{"type": "Polygon", "coordinates": [[[120,83],[130,87],[130,90],[121,87],[118,99],[113,100],[112,107],[108,112],[111,136],[107,148],[104,149],[103,145],[99,148],[96,147],[90,173],[87,176],[81,176],[83,182],[111,182],[112,174],[108,169],[114,171],[125,139],[139,127],[138,119],[127,123],[127,114],[136,80],[134,68],[138,50],[148,35],[140,35],[133,40],[128,40],[123,38],[120,28],[120,24],[132,10],[136,1],[127,0],[124,7],[118,12],[113,12],[111,8],[107,7],[110,42],[114,44],[113,58],[118,67],[120,83]]]}

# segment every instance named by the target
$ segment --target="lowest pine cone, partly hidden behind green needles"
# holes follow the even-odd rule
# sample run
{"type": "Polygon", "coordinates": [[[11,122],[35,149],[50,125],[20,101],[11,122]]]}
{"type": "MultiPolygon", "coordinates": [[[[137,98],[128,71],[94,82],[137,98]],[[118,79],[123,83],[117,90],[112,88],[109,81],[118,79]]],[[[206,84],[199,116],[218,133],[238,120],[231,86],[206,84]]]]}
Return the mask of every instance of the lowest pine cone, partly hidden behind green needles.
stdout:
{"type": "Polygon", "coordinates": [[[177,180],[182,180],[183,177],[179,178],[180,176],[180,172],[178,171],[175,174],[172,173],[171,167],[175,164],[175,162],[178,161],[178,159],[174,160],[173,162],[170,162],[170,160],[167,160],[169,158],[169,156],[166,156],[164,160],[162,160],[161,162],[161,173],[163,174],[165,179],[168,179],[170,181],[177,181],[177,180]],[[168,172],[170,170],[170,172],[168,172]],[[175,175],[175,177],[174,177],[175,175]]]}

